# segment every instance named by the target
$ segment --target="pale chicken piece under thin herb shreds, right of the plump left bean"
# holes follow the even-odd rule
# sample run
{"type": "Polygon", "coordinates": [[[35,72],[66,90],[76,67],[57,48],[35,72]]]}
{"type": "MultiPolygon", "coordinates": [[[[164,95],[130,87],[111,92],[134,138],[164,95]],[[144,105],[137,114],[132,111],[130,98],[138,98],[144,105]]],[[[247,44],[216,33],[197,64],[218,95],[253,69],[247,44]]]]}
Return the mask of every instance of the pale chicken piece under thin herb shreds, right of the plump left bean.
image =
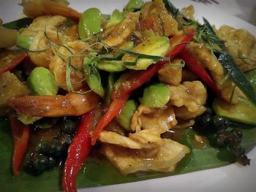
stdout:
{"type": "MultiPolygon", "coordinates": [[[[58,52],[59,55],[54,55],[53,58],[50,60],[49,69],[56,78],[56,83],[63,89],[67,90],[67,81],[66,81],[66,71],[67,71],[67,58],[71,55],[81,55],[86,54],[85,50],[89,48],[89,44],[86,42],[75,41],[75,42],[68,42],[67,46],[69,47],[60,47],[58,52]],[[70,53],[70,51],[72,53],[70,53]]],[[[75,66],[78,69],[82,68],[83,58],[71,58],[72,66],[75,66]]],[[[75,70],[71,67],[71,74],[70,74],[70,81],[75,91],[83,88],[83,73],[79,70],[75,70]]]]}

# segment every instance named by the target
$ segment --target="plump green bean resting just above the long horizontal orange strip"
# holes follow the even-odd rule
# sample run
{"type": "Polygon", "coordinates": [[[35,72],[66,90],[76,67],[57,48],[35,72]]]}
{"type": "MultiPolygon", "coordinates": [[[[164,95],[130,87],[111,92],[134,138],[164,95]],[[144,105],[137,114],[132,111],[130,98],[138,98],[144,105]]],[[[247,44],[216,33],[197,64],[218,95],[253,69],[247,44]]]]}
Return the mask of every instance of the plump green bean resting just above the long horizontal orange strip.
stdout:
{"type": "Polygon", "coordinates": [[[54,75],[45,67],[39,66],[29,74],[29,86],[39,96],[54,96],[58,93],[54,75]]]}

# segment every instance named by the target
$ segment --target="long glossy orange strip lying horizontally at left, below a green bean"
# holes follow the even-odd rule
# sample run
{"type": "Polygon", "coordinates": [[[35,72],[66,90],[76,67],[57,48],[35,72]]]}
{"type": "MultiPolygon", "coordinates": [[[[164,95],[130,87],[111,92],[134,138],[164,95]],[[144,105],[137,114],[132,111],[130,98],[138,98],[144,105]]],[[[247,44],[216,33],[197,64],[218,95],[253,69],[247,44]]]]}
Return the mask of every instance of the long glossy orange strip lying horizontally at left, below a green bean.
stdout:
{"type": "Polygon", "coordinates": [[[91,111],[99,102],[92,91],[85,94],[68,93],[65,96],[18,96],[8,100],[16,112],[35,117],[79,116],[91,111]]]}

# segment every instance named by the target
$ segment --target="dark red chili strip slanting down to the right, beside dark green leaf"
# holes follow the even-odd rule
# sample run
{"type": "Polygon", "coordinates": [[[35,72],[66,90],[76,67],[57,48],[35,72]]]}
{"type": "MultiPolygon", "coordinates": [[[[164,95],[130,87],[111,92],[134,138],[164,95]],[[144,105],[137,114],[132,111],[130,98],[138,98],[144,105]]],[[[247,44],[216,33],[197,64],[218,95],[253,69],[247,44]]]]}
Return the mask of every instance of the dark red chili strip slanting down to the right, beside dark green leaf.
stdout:
{"type": "Polygon", "coordinates": [[[184,60],[187,68],[191,72],[197,74],[197,76],[206,82],[206,85],[208,85],[209,88],[211,88],[211,90],[214,91],[218,97],[220,97],[219,89],[217,88],[214,80],[211,79],[211,76],[208,74],[208,72],[206,72],[206,69],[204,69],[203,66],[198,63],[196,58],[194,58],[194,56],[189,52],[189,50],[187,50],[186,47],[181,50],[180,53],[178,53],[178,57],[184,60]]]}

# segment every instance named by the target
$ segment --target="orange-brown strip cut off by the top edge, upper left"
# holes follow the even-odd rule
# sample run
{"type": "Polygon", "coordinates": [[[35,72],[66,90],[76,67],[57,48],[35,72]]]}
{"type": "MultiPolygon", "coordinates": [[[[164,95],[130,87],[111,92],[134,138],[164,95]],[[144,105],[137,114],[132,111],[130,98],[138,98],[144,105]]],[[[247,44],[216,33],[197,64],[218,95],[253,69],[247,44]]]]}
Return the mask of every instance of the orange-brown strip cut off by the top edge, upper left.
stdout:
{"type": "Polygon", "coordinates": [[[42,15],[61,15],[65,18],[78,21],[80,12],[67,7],[67,1],[49,1],[49,0],[23,0],[23,13],[29,18],[37,18],[42,15]]]}

